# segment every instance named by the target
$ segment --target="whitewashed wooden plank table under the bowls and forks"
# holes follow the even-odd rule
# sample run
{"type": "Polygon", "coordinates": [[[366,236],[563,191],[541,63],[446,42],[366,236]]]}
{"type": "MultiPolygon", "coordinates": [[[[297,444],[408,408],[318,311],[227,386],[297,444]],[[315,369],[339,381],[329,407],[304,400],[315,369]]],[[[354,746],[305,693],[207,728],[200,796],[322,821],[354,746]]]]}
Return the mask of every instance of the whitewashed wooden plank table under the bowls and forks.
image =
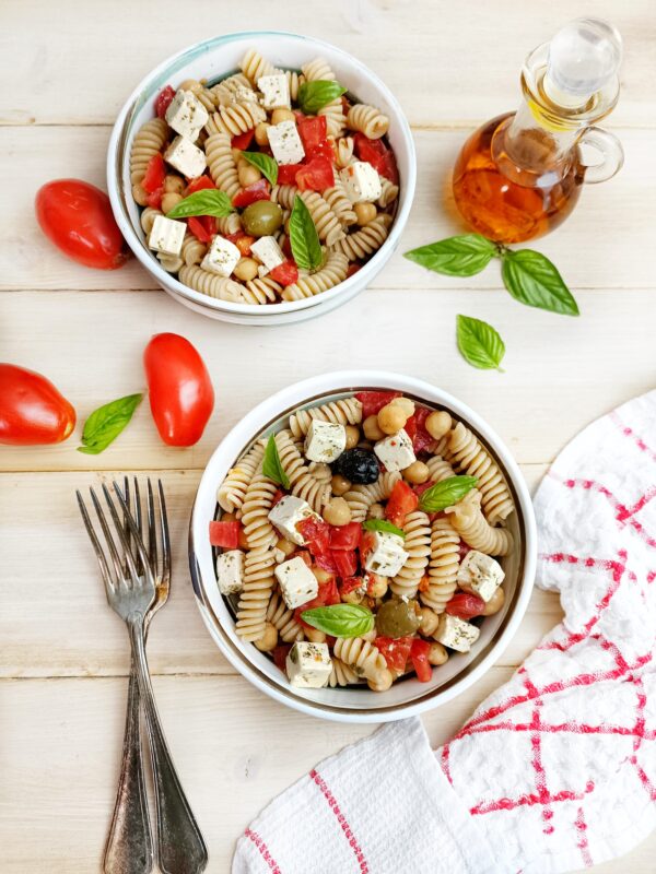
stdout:
{"type": "MultiPolygon", "coordinates": [[[[233,842],[276,793],[370,728],[332,724],[257,693],[220,656],[187,571],[187,524],[202,468],[255,403],[300,376],[387,367],[443,386],[503,436],[531,487],[586,423],[654,386],[653,234],[656,20],[652,0],[434,0],[239,3],[196,0],[0,5],[0,358],[46,374],[79,420],[143,386],[151,334],[173,330],[201,350],[216,410],[202,440],[159,440],[147,404],[101,456],[0,449],[0,871],[99,870],[124,728],[128,645],[105,603],[73,489],[114,472],[164,481],[173,522],[173,594],[153,625],[150,662],[166,732],[210,849],[226,872],[233,842]],[[283,13],[284,10],[284,13],[283,13]],[[623,92],[610,126],[626,164],[584,191],[572,218],[538,247],[558,263],[579,319],[523,308],[493,268],[470,280],[422,271],[400,251],[354,303],[316,321],[238,328],[192,315],[132,261],[86,270],[40,235],[33,213],[46,180],[104,186],[110,125],[134,84],[167,55],[220,32],[289,28],[321,36],[378,72],[403,105],[419,154],[414,208],[400,250],[460,227],[448,196],[457,149],[479,122],[516,106],[525,54],[571,17],[598,14],[625,38],[623,92]],[[454,343],[458,312],[492,322],[507,373],[476,371],[454,343]],[[254,362],[258,362],[254,365],[254,362]]],[[[536,592],[504,656],[425,725],[440,743],[560,617],[536,592]]],[[[599,871],[654,870],[656,837],[599,871]]]]}

